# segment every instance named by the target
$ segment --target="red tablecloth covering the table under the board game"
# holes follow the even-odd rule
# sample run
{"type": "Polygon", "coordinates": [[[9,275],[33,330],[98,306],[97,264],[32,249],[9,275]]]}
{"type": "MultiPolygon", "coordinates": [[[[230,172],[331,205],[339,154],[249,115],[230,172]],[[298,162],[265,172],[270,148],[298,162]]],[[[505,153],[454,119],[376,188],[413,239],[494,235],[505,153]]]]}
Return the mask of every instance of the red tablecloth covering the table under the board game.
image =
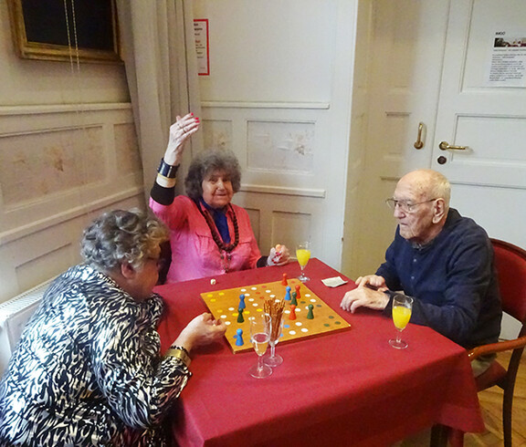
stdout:
{"type": "MultiPolygon", "coordinates": [[[[200,294],[278,281],[300,274],[296,263],[258,268],[158,286],[167,313],[159,327],[170,346],[193,317],[207,310],[200,294]]],[[[278,344],[281,366],[267,379],[247,373],[254,351],[233,354],[226,340],[193,353],[193,372],[179,400],[174,432],[182,446],[353,445],[385,446],[440,423],[461,431],[483,431],[479,399],[463,348],[429,327],[409,324],[409,347],[391,348],[390,318],[340,308],[352,286],[324,286],[341,275],[317,259],[306,273],[310,290],[352,328],[278,344]]],[[[341,275],[344,279],[345,276],[341,275]]]]}

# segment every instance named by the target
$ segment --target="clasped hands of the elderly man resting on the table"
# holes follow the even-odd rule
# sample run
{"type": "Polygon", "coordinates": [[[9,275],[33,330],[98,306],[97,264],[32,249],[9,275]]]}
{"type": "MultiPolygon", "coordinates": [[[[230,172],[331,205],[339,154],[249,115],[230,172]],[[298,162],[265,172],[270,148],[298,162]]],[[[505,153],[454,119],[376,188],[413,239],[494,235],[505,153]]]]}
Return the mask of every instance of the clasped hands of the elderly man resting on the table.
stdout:
{"type": "Polygon", "coordinates": [[[356,288],[347,292],[342,299],[340,307],[354,313],[358,307],[369,307],[375,310],[384,310],[389,303],[389,296],[384,292],[388,290],[385,279],[378,275],[360,276],[355,281],[356,288]]]}

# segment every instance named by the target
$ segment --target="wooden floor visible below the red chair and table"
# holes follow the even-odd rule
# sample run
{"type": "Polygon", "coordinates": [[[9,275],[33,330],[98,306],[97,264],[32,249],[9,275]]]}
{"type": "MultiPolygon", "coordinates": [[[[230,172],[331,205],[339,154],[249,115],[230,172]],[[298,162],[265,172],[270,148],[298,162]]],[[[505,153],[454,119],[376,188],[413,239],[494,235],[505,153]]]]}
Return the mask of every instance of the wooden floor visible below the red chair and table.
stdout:
{"type": "MultiPolygon", "coordinates": [[[[508,365],[510,353],[498,356],[503,366],[508,365]]],[[[502,390],[493,387],[479,392],[480,407],[486,424],[482,433],[467,433],[464,436],[465,447],[500,447],[504,445],[502,436],[502,390]]],[[[519,375],[515,383],[513,397],[513,447],[526,447],[526,353],[522,355],[519,375]]],[[[393,447],[421,447],[429,445],[429,431],[420,433],[393,447]]]]}

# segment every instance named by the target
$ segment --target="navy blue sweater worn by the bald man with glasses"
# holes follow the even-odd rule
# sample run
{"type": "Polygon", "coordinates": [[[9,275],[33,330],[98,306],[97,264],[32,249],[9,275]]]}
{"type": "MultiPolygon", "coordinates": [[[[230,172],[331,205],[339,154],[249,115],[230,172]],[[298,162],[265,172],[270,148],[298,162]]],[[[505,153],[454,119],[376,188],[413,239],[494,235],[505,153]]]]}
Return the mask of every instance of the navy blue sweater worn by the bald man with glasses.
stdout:
{"type": "MultiPolygon", "coordinates": [[[[499,286],[488,234],[472,219],[450,209],[437,237],[424,247],[405,240],[396,228],[376,275],[390,290],[415,298],[411,322],[432,327],[464,348],[497,341],[499,286]]],[[[384,312],[391,313],[391,302],[384,312]]]]}

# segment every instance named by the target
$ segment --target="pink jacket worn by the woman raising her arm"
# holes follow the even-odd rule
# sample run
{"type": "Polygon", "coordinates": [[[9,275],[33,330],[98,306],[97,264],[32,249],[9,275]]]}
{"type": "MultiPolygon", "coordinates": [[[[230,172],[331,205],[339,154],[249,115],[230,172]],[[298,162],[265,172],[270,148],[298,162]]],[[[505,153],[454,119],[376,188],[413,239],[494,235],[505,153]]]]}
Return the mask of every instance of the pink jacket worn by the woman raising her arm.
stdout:
{"type": "MultiPolygon", "coordinates": [[[[232,204],[237,216],[239,244],[230,252],[231,259],[226,260],[226,252],[221,253],[205,218],[195,203],[184,195],[175,197],[174,203],[166,206],[150,198],[150,208],[170,228],[172,264],[166,278],[167,283],[187,281],[204,276],[222,275],[228,271],[255,268],[259,253],[258,243],[248,213],[245,209],[232,204]],[[221,254],[225,259],[221,259],[221,254]]],[[[232,212],[228,211],[228,229],[234,241],[232,212]]]]}

